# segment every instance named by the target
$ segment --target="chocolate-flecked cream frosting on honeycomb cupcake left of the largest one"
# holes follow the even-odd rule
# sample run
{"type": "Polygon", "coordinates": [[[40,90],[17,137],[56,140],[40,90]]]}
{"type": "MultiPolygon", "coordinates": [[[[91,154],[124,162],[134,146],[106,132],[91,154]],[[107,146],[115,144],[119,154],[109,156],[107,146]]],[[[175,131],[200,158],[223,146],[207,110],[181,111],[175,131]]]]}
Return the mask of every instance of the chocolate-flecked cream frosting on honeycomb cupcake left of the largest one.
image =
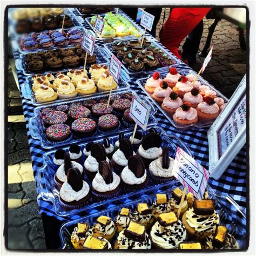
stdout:
{"type": "Polygon", "coordinates": [[[177,248],[180,242],[184,242],[187,238],[187,231],[184,224],[178,220],[170,226],[161,226],[157,221],[150,232],[151,240],[154,244],[164,249],[177,248]]]}

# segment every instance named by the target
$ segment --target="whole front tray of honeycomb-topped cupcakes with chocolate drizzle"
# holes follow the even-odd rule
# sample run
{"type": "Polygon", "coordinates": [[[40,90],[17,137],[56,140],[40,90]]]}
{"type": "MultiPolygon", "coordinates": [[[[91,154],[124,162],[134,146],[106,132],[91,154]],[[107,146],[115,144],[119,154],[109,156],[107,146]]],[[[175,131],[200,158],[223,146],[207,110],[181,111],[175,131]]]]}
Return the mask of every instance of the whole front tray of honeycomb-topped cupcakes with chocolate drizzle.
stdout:
{"type": "Polygon", "coordinates": [[[191,193],[178,218],[176,191],[167,188],[60,227],[62,249],[88,250],[242,250],[246,247],[246,214],[229,196],[208,185],[203,200],[191,193]],[[175,203],[174,203],[175,202],[175,203]]]}

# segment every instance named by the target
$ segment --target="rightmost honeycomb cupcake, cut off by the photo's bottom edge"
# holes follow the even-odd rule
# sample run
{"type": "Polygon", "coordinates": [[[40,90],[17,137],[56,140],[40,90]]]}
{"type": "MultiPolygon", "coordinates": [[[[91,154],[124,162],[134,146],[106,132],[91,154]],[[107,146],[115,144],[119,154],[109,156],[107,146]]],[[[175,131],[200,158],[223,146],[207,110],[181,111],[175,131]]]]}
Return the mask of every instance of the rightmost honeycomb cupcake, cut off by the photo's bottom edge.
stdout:
{"type": "Polygon", "coordinates": [[[210,234],[203,243],[203,248],[206,250],[230,250],[239,249],[237,240],[233,235],[228,233],[228,230],[223,225],[216,227],[215,233],[210,234]]]}

